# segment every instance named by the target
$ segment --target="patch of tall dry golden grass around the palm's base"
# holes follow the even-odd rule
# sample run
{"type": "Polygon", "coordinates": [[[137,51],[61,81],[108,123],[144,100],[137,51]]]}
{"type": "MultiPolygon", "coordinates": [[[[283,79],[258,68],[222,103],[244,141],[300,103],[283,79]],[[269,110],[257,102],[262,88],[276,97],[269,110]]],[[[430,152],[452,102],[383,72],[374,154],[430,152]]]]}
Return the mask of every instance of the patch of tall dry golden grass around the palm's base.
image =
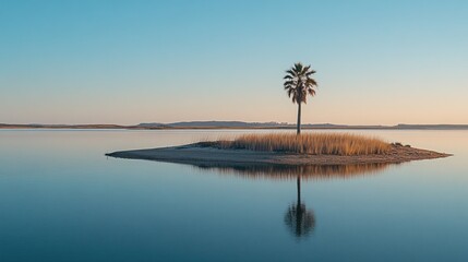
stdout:
{"type": "Polygon", "coordinates": [[[385,154],[392,145],[376,138],[346,133],[242,134],[218,142],[221,148],[288,152],[312,155],[385,154]]]}

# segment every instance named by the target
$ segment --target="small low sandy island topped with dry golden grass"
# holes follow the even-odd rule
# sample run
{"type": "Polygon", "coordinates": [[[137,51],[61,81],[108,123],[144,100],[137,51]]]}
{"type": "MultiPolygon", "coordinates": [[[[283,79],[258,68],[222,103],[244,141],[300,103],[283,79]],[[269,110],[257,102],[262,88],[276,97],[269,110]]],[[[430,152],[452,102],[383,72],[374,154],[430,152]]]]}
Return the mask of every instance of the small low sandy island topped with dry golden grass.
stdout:
{"type": "Polygon", "coordinates": [[[121,151],[111,157],[203,165],[357,165],[399,164],[451,154],[387,143],[346,133],[243,134],[188,145],[121,151]]]}

